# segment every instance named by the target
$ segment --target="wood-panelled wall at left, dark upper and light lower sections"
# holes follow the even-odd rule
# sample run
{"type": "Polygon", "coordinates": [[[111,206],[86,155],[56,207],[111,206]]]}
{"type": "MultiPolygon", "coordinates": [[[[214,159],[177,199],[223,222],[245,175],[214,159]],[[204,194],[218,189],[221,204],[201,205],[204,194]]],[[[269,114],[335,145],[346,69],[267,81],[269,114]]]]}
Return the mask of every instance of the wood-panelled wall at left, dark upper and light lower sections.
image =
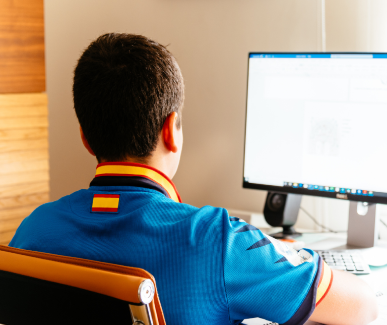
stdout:
{"type": "Polygon", "coordinates": [[[49,200],[43,0],[0,0],[0,244],[49,200]]]}

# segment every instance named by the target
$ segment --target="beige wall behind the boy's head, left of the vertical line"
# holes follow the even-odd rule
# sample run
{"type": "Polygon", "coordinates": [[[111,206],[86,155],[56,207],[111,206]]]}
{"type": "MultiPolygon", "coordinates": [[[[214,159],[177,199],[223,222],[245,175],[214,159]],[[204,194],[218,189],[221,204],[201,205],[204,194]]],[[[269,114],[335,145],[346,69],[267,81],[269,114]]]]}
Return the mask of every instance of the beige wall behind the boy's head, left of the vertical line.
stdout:
{"type": "Polygon", "coordinates": [[[320,50],[318,0],[61,0],[45,2],[51,199],[87,188],[96,162],[82,147],[71,96],[82,49],[105,32],[152,37],[176,56],[186,100],[173,179],[184,202],[261,211],[242,189],[248,51],[320,50]]]}

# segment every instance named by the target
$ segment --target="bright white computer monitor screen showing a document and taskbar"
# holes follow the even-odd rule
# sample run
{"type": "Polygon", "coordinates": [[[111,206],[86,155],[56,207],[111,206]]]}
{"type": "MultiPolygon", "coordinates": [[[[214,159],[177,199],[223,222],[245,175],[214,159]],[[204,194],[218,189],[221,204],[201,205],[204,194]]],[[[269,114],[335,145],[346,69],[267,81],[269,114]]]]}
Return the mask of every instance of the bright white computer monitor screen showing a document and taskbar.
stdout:
{"type": "Polygon", "coordinates": [[[387,53],[250,53],[243,187],[387,203],[387,53]]]}

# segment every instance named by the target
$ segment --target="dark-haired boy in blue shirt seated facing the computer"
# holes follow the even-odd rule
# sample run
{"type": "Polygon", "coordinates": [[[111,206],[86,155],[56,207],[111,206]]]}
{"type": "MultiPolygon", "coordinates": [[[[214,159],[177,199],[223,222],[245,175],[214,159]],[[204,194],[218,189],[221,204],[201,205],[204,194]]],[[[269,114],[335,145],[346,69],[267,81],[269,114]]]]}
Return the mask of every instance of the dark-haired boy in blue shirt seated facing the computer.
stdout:
{"type": "Polygon", "coordinates": [[[366,324],[372,291],[311,250],[288,249],[227,210],[181,203],[171,179],[184,85],[171,53],[146,37],[105,34],[74,72],[74,107],[97,157],[88,190],[43,204],[10,246],[127,266],[156,279],[167,324],[366,324]],[[317,306],[317,307],[316,307],[317,306]]]}

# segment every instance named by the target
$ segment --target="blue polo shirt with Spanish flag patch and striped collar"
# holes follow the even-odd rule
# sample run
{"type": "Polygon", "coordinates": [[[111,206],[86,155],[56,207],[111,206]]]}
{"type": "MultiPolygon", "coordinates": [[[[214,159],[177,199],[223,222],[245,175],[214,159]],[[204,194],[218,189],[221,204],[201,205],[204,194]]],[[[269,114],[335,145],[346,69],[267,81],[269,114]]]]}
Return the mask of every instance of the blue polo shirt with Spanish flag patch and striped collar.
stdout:
{"type": "Polygon", "coordinates": [[[156,280],[166,323],[302,324],[332,272],[226,209],[181,203],[172,181],[141,164],[103,163],[90,188],[43,204],[10,246],[141,267],[156,280]]]}

